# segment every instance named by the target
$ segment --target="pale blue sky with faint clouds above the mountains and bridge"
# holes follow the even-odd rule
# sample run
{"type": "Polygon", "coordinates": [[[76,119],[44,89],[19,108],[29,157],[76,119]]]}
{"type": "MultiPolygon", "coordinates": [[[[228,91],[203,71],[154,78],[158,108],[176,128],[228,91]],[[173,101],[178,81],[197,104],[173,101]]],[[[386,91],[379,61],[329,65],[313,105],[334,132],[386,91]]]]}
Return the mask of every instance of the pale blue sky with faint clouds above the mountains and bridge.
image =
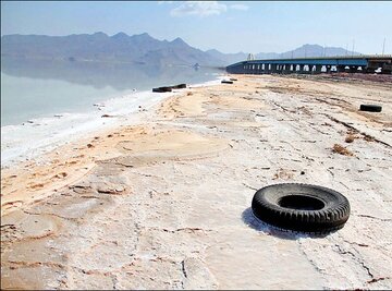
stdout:
{"type": "Polygon", "coordinates": [[[392,53],[391,15],[389,1],[1,1],[1,35],[148,33],[225,53],[318,44],[380,54],[392,53]]]}

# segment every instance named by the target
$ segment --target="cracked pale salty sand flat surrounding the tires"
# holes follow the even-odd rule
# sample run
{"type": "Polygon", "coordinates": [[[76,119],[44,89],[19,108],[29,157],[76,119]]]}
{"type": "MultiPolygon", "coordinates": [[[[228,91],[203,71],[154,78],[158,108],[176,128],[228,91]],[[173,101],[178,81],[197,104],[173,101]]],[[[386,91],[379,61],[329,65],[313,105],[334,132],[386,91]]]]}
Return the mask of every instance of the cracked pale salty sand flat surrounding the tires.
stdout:
{"type": "Polygon", "coordinates": [[[1,288],[391,289],[392,85],[235,77],[2,170],[1,288]],[[350,220],[269,228],[250,202],[281,182],[343,193],[350,220]]]}

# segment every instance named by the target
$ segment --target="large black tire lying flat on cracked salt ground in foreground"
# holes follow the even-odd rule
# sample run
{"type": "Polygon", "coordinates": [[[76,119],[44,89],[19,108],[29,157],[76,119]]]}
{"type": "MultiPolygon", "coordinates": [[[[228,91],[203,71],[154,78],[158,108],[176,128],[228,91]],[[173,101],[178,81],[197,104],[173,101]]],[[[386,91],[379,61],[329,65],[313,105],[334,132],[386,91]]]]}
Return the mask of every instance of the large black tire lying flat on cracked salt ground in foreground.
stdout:
{"type": "Polygon", "coordinates": [[[336,191],[309,184],[275,184],[256,192],[252,210],[274,227],[310,233],[343,228],[350,203],[336,191]]]}

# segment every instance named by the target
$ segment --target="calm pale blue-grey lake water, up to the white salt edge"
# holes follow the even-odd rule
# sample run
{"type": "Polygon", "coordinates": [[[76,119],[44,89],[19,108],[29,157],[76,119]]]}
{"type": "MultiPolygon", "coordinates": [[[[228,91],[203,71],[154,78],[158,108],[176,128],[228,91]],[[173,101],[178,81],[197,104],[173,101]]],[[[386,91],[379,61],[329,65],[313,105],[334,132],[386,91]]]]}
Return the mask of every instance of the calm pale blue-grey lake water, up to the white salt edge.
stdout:
{"type": "Polygon", "coordinates": [[[1,125],[64,112],[155,86],[203,83],[222,71],[191,66],[37,61],[2,58],[1,125]]]}

